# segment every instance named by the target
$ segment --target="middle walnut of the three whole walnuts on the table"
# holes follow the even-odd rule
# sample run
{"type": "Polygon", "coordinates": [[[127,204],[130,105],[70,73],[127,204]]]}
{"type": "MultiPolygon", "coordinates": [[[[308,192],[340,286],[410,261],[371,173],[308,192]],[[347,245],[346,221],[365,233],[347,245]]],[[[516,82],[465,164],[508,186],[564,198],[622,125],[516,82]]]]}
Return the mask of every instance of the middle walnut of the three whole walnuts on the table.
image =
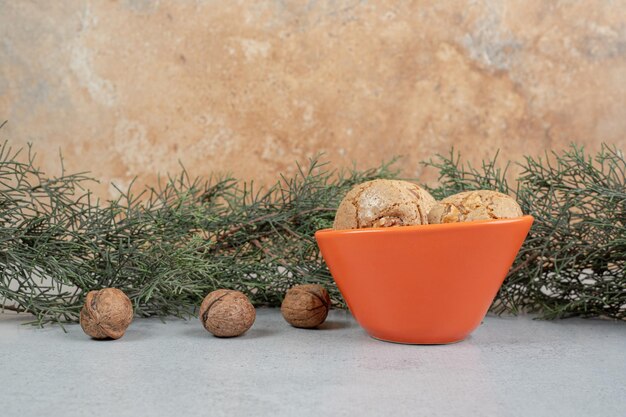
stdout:
{"type": "Polygon", "coordinates": [[[215,290],[200,305],[200,321],[217,337],[235,337],[245,333],[256,318],[256,310],[244,293],[215,290]]]}

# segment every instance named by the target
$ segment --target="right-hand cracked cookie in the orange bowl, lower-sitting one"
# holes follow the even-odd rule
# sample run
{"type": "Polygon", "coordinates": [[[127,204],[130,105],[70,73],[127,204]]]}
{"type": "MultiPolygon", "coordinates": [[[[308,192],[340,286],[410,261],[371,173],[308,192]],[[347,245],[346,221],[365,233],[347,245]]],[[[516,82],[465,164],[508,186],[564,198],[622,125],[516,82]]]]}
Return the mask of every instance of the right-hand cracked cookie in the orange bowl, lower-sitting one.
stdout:
{"type": "Polygon", "coordinates": [[[429,223],[459,223],[520,217],[522,209],[512,197],[490,190],[464,191],[444,198],[428,213],[429,223]]]}

